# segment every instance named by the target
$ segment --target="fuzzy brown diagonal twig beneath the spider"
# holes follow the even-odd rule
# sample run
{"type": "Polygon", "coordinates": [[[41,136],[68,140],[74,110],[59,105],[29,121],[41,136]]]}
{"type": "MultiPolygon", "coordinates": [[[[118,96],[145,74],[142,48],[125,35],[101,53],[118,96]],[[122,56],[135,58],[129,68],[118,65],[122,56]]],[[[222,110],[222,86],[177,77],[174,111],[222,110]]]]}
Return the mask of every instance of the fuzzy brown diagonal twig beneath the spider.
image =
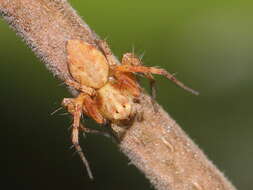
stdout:
{"type": "MultiPolygon", "coordinates": [[[[95,44],[98,39],[66,0],[0,0],[0,13],[61,80],[70,77],[66,41],[95,44]]],[[[153,111],[151,102],[149,96],[141,96],[143,121],[134,121],[128,129],[112,126],[131,163],[159,190],[234,190],[160,106],[153,111]]]]}

